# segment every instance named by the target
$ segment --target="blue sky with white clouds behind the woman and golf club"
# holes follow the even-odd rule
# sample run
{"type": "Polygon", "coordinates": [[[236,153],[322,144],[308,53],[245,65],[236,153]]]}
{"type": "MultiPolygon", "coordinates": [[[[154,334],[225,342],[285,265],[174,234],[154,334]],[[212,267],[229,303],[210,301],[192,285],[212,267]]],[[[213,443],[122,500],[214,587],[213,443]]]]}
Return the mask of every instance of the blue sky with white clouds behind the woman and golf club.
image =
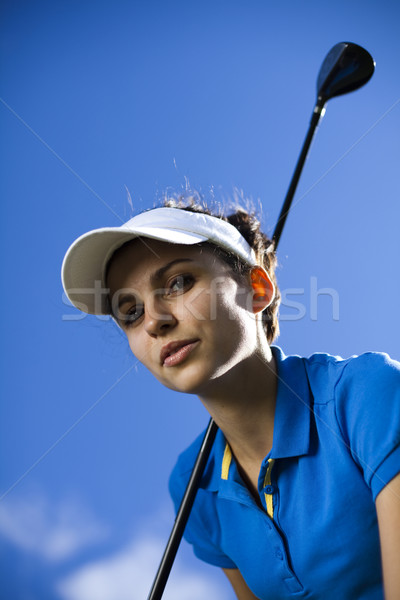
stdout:
{"type": "MultiPolygon", "coordinates": [[[[243,191],[272,231],[328,50],[377,67],[332,100],[279,250],[286,353],[398,350],[396,2],[5,1],[1,18],[0,589],[7,600],[147,597],[169,472],[205,426],[60,267],[81,233],[188,182],[243,191]],[[297,304],[294,304],[297,303],[297,304]]],[[[183,545],[165,598],[232,600],[183,545]]]]}

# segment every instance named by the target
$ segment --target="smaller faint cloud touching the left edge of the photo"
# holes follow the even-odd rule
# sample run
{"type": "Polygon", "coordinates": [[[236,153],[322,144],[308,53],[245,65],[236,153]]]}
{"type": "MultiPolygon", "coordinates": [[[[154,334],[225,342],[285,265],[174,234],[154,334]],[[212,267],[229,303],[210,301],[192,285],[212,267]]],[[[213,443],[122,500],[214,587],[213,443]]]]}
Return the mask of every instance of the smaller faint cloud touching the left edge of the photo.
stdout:
{"type": "Polygon", "coordinates": [[[106,529],[76,499],[54,505],[36,494],[0,503],[0,534],[22,550],[61,561],[104,539],[106,529]]]}

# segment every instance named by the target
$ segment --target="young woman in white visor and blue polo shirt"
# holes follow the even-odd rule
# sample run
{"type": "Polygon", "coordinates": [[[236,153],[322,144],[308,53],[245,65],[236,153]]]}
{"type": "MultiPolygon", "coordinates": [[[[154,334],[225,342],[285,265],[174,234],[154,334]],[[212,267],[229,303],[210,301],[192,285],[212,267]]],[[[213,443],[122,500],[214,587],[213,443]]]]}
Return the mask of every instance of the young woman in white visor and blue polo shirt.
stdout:
{"type": "MultiPolygon", "coordinates": [[[[398,600],[400,364],[271,346],[274,268],[244,211],[169,202],[78,238],[63,284],[219,426],[185,535],[239,600],[398,600]]],[[[172,473],[176,506],[201,439],[172,473]]]]}

